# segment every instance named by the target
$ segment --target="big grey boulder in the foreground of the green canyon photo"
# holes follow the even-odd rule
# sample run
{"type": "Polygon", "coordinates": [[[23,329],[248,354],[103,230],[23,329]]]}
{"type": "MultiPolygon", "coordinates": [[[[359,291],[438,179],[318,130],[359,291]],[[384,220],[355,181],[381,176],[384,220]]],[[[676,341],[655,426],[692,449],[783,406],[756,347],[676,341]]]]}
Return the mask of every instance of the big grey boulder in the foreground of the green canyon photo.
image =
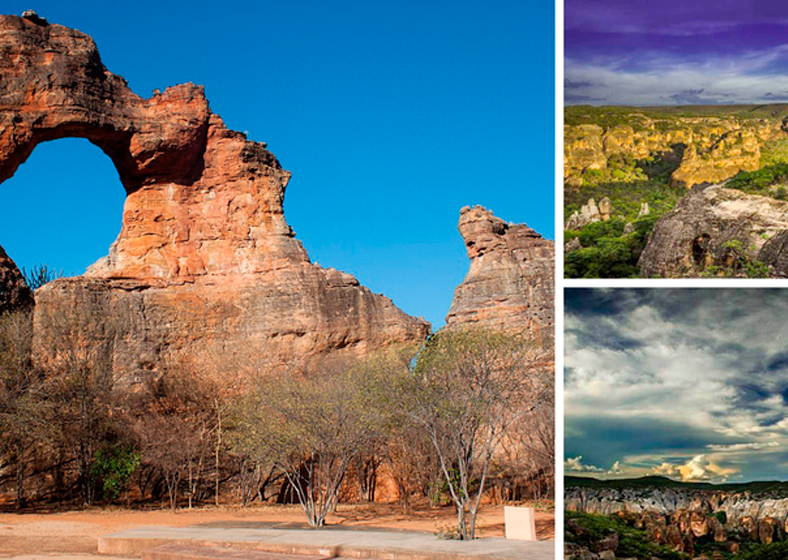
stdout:
{"type": "Polygon", "coordinates": [[[698,186],[654,226],[638,262],[645,277],[735,270],[740,258],[788,275],[788,202],[723,185],[698,186]],[[712,268],[715,267],[715,268],[712,268]]]}

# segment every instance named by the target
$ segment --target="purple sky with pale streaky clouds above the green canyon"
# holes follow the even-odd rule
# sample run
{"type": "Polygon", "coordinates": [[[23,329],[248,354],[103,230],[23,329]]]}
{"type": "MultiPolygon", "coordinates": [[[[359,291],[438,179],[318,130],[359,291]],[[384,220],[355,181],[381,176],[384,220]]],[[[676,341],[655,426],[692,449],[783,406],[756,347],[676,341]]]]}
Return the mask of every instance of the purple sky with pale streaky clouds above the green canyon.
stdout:
{"type": "Polygon", "coordinates": [[[784,0],[565,0],[569,105],[788,101],[784,0]]]}

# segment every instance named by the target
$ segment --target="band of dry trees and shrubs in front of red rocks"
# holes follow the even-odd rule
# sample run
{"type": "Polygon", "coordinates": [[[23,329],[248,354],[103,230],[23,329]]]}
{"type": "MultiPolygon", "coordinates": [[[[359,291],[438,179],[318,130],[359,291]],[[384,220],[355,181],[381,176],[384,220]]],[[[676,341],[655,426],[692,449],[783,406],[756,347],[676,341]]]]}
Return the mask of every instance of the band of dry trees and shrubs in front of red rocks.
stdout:
{"type": "Polygon", "coordinates": [[[449,533],[474,538],[483,501],[552,498],[545,340],[449,332],[275,374],[235,356],[221,379],[189,359],[127,379],[109,360],[122,325],[71,319],[37,317],[34,348],[30,314],[0,317],[8,509],[297,503],[322,526],[339,503],[384,499],[453,504],[449,533]]]}

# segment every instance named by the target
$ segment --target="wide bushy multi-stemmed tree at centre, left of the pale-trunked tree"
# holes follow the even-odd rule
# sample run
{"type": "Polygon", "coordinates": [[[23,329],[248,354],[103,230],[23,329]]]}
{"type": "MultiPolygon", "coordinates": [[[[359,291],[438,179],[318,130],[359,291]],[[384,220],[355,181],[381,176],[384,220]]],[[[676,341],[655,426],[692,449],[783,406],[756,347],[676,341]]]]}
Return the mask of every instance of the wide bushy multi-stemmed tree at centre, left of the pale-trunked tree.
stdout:
{"type": "Polygon", "coordinates": [[[321,364],[270,377],[234,412],[233,448],[281,470],[313,527],[325,525],[348,467],[385,422],[370,402],[365,371],[321,364]]]}

